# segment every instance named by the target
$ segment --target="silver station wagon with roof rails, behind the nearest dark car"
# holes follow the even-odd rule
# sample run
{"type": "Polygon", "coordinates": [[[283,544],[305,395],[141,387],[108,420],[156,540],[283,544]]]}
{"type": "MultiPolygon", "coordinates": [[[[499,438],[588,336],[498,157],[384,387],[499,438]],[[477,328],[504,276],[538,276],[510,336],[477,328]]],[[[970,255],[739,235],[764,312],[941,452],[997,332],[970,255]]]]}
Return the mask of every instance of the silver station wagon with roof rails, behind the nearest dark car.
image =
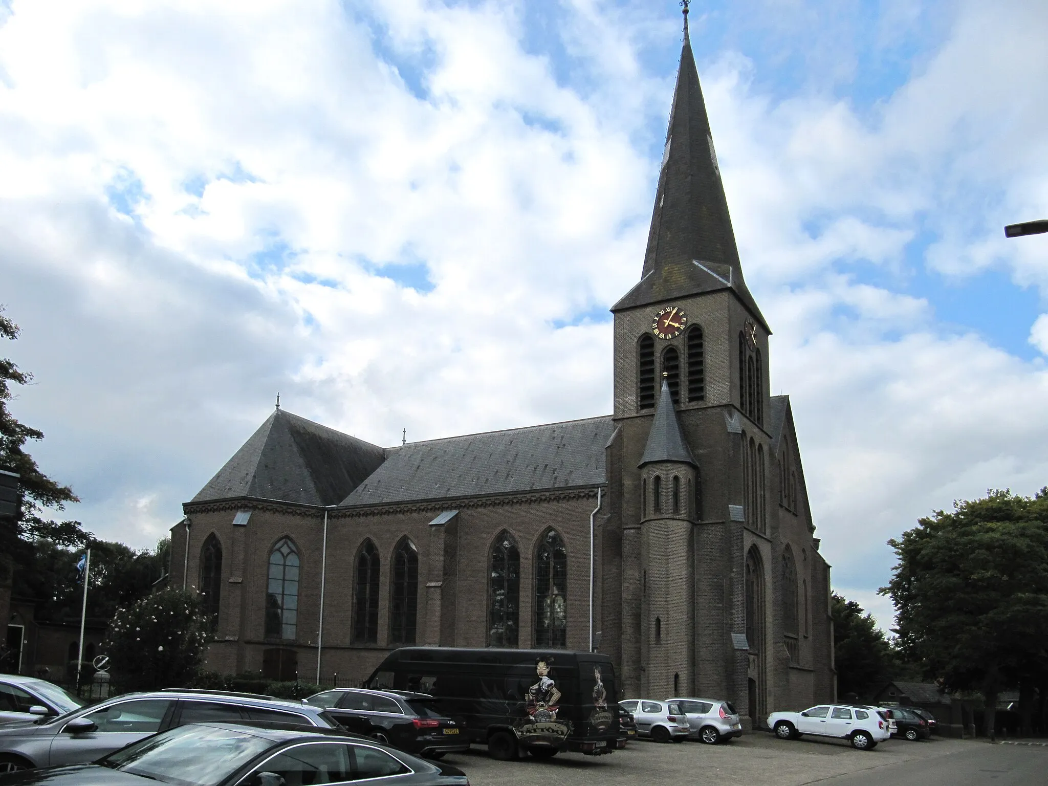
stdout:
{"type": "Polygon", "coordinates": [[[242,720],[339,727],[323,707],[266,696],[191,690],[125,694],[58,717],[0,725],[0,772],[93,762],[163,729],[242,720]]]}

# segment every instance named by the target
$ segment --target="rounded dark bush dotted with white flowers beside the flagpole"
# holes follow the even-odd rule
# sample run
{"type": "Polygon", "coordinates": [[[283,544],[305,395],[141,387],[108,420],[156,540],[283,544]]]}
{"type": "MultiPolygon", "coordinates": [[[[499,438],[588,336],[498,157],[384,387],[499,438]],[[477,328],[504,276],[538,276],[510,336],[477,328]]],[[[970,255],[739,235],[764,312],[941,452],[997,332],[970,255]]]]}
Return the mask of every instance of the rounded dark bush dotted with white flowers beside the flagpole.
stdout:
{"type": "Polygon", "coordinates": [[[209,637],[197,594],[167,589],[117,609],[104,652],[122,687],[183,687],[196,676],[209,637]]]}

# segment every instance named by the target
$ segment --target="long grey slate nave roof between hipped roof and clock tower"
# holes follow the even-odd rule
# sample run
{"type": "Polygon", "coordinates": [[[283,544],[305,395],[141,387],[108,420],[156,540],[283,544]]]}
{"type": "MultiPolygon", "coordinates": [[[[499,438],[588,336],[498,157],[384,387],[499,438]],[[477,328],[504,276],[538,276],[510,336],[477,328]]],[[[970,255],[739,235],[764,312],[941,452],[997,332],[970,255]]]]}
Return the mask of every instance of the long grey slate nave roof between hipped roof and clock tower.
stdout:
{"type": "Polygon", "coordinates": [[[342,504],[601,485],[613,430],[607,415],[390,447],[386,462],[342,504]]]}

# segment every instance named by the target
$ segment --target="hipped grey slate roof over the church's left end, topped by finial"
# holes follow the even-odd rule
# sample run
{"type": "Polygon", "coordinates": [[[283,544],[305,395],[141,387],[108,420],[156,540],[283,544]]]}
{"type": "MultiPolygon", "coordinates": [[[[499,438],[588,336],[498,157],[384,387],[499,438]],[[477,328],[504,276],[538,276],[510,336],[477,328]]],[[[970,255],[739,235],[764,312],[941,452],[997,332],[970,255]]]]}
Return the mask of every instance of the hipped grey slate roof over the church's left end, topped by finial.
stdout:
{"type": "Polygon", "coordinates": [[[377,445],[277,410],[192,502],[257,497],[333,505],[385,458],[377,445]]]}

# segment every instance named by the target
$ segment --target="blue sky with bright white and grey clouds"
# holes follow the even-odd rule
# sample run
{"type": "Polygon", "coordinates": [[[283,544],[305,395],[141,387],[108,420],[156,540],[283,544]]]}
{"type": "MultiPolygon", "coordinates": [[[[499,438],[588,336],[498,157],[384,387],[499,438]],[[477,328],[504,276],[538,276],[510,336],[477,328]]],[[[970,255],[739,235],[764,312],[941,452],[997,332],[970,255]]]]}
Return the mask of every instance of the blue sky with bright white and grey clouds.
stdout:
{"type": "MultiPolygon", "coordinates": [[[[0,0],[0,347],[63,516],[153,546],[271,412],[611,412],[675,0],[0,0]]],[[[691,40],[834,588],[1048,484],[1048,4],[723,0],[691,40]]]]}

